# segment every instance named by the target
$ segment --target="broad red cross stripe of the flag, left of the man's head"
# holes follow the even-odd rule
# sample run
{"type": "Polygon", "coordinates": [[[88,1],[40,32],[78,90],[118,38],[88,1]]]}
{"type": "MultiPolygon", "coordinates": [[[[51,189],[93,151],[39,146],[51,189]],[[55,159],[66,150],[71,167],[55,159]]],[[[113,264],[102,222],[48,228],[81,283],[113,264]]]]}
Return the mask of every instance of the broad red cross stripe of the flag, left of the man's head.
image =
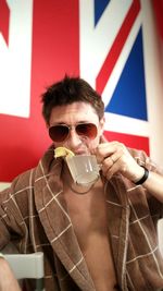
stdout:
{"type": "Polygon", "coordinates": [[[3,182],[35,167],[51,143],[41,117],[45,87],[65,73],[79,74],[78,1],[34,1],[33,17],[30,117],[0,114],[3,182]]]}

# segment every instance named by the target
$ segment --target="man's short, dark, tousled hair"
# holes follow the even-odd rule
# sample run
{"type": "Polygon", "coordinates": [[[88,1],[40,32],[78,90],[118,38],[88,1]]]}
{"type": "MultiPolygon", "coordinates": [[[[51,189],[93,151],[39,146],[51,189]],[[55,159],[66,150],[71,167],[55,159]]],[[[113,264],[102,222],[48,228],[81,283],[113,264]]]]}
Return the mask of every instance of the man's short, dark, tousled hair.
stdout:
{"type": "Polygon", "coordinates": [[[83,78],[67,75],[52,84],[41,95],[42,116],[49,124],[51,111],[55,106],[70,105],[76,101],[90,104],[99,119],[103,117],[104,104],[101,96],[83,78]]]}

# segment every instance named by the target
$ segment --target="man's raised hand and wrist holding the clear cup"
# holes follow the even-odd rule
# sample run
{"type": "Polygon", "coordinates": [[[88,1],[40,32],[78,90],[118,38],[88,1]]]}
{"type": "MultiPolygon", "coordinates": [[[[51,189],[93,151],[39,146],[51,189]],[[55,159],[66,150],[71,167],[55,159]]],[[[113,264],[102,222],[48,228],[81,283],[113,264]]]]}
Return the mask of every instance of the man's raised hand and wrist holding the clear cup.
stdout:
{"type": "MultiPolygon", "coordinates": [[[[127,147],[118,142],[102,143],[93,153],[98,163],[101,166],[103,175],[109,180],[117,172],[133,182],[138,182],[145,174],[145,169],[133,158],[127,147]]],[[[143,182],[149,193],[163,203],[163,172],[150,171],[148,179],[143,182]]]]}

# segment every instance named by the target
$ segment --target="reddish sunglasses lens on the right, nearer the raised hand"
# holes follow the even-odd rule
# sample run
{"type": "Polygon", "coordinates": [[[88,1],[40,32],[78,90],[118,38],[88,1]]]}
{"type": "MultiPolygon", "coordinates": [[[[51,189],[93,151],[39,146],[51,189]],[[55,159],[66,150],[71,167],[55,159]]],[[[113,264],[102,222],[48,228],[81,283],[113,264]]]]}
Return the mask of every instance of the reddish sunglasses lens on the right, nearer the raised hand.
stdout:
{"type": "Polygon", "coordinates": [[[92,123],[78,124],[76,126],[76,132],[78,135],[84,135],[93,140],[97,136],[97,126],[92,123]]]}

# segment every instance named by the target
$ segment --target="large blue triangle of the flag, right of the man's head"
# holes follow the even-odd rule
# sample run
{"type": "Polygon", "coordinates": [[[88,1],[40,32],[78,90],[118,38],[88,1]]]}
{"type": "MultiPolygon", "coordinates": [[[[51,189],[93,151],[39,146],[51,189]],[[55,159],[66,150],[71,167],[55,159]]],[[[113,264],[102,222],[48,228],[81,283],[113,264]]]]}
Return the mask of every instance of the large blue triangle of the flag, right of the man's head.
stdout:
{"type": "Polygon", "coordinates": [[[105,111],[148,120],[141,28],[105,111]]]}

